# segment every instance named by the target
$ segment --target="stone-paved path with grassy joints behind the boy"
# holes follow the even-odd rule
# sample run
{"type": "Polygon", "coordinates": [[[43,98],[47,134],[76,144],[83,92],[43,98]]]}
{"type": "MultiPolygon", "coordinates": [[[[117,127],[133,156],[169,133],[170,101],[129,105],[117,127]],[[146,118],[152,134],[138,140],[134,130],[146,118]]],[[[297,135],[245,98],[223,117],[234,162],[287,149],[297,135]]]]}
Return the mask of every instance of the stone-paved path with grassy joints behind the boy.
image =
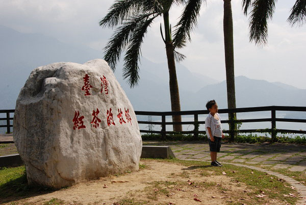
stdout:
{"type": "MultiPolygon", "coordinates": [[[[210,160],[207,142],[148,142],[143,145],[170,146],[175,157],[182,160],[210,160]]],[[[218,161],[260,165],[290,171],[306,171],[306,146],[298,144],[223,143],[218,161]]],[[[305,180],[306,181],[306,180],[305,180]]]]}

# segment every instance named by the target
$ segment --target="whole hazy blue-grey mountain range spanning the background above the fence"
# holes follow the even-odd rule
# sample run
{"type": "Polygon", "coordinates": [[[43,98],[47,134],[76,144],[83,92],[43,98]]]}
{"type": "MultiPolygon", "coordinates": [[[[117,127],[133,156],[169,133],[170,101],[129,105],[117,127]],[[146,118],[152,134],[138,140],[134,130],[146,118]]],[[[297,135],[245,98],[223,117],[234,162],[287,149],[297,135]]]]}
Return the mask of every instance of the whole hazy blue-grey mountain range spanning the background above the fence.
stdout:
{"type": "MultiPolygon", "coordinates": [[[[17,95],[31,70],[53,62],[84,63],[101,58],[102,52],[62,43],[41,34],[23,34],[0,26],[0,109],[14,109],[17,95]]],[[[166,63],[141,60],[139,85],[131,89],[122,79],[122,62],[115,75],[135,110],[170,111],[169,73],[166,63]]],[[[177,64],[182,110],[205,109],[209,99],[227,108],[226,82],[190,72],[177,64]]],[[[306,106],[306,90],[280,82],[236,77],[237,107],[306,106]]]]}

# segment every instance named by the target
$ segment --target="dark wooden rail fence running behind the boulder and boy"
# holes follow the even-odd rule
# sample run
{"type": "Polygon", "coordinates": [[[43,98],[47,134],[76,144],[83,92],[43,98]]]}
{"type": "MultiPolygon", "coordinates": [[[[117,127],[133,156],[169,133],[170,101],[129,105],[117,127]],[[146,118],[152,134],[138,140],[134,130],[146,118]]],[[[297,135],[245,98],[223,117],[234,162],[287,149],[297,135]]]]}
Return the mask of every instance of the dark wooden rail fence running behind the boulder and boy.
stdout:
{"type": "MultiPolygon", "coordinates": [[[[245,112],[261,112],[261,111],[270,111],[271,118],[258,118],[258,119],[230,119],[230,120],[221,120],[221,123],[228,123],[231,125],[240,122],[271,122],[271,129],[251,129],[251,130],[225,130],[224,133],[229,133],[231,136],[235,136],[237,132],[239,133],[271,133],[272,141],[276,138],[277,133],[295,133],[295,134],[306,134],[306,131],[302,130],[282,130],[276,129],[276,122],[305,122],[306,119],[288,119],[288,118],[276,118],[276,111],[300,111],[306,112],[306,107],[288,107],[288,106],[266,106],[266,107],[251,107],[251,108],[236,108],[236,109],[219,109],[218,113],[245,113],[245,112]]],[[[5,120],[5,125],[0,125],[0,127],[7,127],[7,133],[11,132],[11,127],[13,124],[10,123],[10,120],[13,120],[10,117],[10,113],[14,113],[15,110],[0,110],[0,113],[6,113],[6,118],[0,118],[0,120],[5,120]]],[[[194,134],[195,138],[198,137],[198,134],[205,134],[205,131],[198,130],[198,125],[205,124],[205,121],[198,121],[198,115],[208,114],[207,110],[193,110],[193,111],[180,111],[180,112],[148,112],[148,111],[135,111],[136,115],[147,115],[147,116],[161,116],[162,121],[141,121],[138,120],[139,124],[159,124],[162,126],[161,131],[152,131],[152,130],[140,130],[141,133],[155,133],[161,134],[163,138],[166,138],[166,134],[173,134],[177,132],[166,131],[166,125],[171,124],[194,124],[195,129],[193,131],[182,131],[179,133],[182,134],[194,134]],[[183,122],[166,122],[166,116],[172,115],[193,115],[193,121],[183,121],[183,122]]]]}

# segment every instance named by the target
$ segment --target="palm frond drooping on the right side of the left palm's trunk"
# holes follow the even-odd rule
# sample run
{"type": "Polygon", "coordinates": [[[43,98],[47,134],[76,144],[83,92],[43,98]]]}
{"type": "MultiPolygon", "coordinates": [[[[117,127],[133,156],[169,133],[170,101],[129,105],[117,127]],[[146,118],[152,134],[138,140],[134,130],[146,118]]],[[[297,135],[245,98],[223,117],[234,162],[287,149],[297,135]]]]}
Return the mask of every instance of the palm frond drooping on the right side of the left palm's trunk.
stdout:
{"type": "Polygon", "coordinates": [[[189,0],[184,8],[180,21],[175,25],[173,45],[182,48],[187,41],[191,41],[190,32],[193,30],[199,17],[200,7],[203,0],[189,0]]]}

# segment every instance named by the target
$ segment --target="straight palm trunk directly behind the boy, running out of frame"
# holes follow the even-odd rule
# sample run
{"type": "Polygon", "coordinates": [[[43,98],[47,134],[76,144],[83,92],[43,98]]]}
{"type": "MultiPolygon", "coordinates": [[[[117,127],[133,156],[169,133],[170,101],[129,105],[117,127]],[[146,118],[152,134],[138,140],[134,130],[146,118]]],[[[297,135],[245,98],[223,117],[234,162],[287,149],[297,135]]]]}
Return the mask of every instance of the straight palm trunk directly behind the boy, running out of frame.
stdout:
{"type": "MultiPolygon", "coordinates": [[[[233,40],[233,16],[231,0],[224,1],[223,33],[226,69],[227,107],[236,108],[235,75],[234,75],[234,40],[233,40]]],[[[236,113],[228,114],[228,119],[236,119],[236,113]]],[[[234,139],[235,123],[230,124],[231,139],[234,139]]]]}

